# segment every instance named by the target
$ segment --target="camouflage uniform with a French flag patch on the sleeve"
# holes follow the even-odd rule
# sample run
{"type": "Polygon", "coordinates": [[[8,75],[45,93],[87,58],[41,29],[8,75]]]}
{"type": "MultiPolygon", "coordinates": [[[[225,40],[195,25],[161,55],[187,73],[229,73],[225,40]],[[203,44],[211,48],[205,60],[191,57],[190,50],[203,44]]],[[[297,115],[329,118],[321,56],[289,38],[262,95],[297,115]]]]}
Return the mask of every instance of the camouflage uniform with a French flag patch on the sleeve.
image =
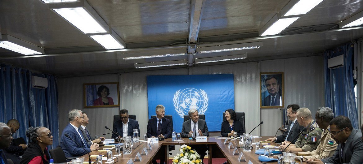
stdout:
{"type": "Polygon", "coordinates": [[[311,120],[307,128],[309,129],[301,133],[294,145],[297,148],[301,148],[302,151],[313,151],[320,143],[323,130],[318,127],[314,120],[311,120]]]}

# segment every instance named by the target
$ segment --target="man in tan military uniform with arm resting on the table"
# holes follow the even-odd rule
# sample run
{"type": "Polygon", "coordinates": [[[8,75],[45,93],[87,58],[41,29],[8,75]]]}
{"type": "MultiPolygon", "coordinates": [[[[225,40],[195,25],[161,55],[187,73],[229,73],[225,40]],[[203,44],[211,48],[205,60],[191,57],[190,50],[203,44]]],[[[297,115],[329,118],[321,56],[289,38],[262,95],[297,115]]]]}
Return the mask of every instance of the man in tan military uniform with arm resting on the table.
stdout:
{"type": "Polygon", "coordinates": [[[319,128],[324,129],[319,146],[314,151],[293,153],[305,156],[305,159],[324,159],[333,156],[338,147],[338,143],[333,139],[329,131],[329,123],[333,118],[333,110],[329,107],[319,108],[315,113],[315,122],[319,125],[319,128]]]}

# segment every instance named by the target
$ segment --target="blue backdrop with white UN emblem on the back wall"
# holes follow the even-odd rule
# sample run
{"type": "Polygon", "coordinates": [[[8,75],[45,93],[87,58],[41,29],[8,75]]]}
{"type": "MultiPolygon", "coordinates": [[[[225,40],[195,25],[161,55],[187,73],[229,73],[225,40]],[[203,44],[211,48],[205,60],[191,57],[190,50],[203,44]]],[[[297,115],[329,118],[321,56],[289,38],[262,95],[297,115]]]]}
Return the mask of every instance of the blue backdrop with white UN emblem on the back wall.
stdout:
{"type": "Polygon", "coordinates": [[[209,131],[220,131],[223,112],[234,109],[233,74],[147,76],[147,96],[149,118],[156,115],[156,105],[164,105],[177,133],[193,107],[205,114],[209,131]]]}

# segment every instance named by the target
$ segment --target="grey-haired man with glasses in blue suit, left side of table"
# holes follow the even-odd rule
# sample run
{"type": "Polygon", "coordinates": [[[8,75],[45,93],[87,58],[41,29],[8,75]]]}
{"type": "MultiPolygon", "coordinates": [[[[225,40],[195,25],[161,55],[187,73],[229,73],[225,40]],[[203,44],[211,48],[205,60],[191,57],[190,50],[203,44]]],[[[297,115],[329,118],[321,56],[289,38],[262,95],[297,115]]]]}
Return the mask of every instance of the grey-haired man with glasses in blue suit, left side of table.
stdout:
{"type": "Polygon", "coordinates": [[[83,118],[82,110],[73,109],[68,113],[69,124],[64,128],[61,135],[61,148],[67,158],[82,156],[99,148],[97,143],[87,144],[86,139],[83,137],[82,131],[79,129],[84,120],[83,118]],[[65,134],[68,134],[70,138],[66,137],[65,134]]]}

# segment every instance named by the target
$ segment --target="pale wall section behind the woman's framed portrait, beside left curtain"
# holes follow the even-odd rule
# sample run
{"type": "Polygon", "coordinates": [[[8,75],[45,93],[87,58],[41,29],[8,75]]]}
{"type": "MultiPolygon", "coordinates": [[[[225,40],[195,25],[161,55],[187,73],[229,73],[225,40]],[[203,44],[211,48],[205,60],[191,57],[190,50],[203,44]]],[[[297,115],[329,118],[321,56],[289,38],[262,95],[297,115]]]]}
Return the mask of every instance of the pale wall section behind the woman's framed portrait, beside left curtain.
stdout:
{"type": "MultiPolygon", "coordinates": [[[[64,127],[69,123],[68,112],[71,109],[80,109],[87,113],[89,118],[89,125],[87,128],[90,130],[92,136],[102,136],[103,133],[109,133],[109,130],[105,129],[105,126],[112,129],[113,115],[117,115],[119,113],[119,108],[84,108],[83,83],[118,82],[118,80],[119,76],[117,74],[58,79],[58,113],[60,133],[62,133],[64,127]]],[[[111,134],[106,135],[106,137],[111,138],[111,134]]]]}

